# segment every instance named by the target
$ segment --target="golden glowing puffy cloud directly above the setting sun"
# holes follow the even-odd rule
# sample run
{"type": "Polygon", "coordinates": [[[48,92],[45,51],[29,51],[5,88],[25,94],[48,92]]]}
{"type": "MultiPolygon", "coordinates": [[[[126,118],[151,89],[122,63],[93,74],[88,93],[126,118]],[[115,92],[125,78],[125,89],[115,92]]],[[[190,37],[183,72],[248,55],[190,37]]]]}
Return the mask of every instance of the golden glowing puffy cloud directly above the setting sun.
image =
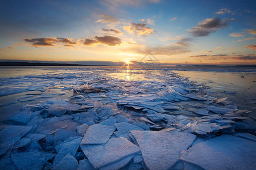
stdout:
{"type": "Polygon", "coordinates": [[[123,26],[123,29],[131,34],[138,36],[146,36],[155,33],[154,29],[146,27],[146,25],[146,23],[131,23],[129,25],[123,26]]]}

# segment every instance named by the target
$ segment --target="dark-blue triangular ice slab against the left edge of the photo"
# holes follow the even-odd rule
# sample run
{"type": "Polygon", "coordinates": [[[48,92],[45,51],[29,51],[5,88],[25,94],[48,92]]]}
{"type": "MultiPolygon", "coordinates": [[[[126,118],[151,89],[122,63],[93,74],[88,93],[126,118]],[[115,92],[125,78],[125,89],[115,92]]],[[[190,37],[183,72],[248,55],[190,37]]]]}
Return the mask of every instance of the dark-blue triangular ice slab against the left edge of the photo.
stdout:
{"type": "Polygon", "coordinates": [[[11,148],[21,137],[32,129],[30,126],[1,125],[0,129],[0,155],[11,148]]]}

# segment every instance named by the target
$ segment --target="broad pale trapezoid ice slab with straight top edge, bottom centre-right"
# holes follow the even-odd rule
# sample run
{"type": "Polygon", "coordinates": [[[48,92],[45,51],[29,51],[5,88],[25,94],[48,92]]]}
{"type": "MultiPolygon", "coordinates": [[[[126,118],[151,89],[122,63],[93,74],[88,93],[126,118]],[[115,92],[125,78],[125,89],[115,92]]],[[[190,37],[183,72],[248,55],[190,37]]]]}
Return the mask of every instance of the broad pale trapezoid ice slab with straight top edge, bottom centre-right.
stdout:
{"type": "Polygon", "coordinates": [[[196,138],[191,133],[169,131],[132,130],[131,134],[149,169],[171,168],[179,160],[181,151],[187,150],[196,138]]]}

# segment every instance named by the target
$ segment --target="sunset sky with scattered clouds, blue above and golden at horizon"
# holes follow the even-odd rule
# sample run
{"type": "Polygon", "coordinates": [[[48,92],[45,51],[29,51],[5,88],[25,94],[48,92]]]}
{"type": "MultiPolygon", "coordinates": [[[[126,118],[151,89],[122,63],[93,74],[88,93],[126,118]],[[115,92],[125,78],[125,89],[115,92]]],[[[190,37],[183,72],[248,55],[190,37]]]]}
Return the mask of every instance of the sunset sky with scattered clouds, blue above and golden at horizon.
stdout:
{"type": "Polygon", "coordinates": [[[255,0],[0,0],[0,59],[138,62],[150,52],[166,66],[256,65],[255,8],[255,0]]]}

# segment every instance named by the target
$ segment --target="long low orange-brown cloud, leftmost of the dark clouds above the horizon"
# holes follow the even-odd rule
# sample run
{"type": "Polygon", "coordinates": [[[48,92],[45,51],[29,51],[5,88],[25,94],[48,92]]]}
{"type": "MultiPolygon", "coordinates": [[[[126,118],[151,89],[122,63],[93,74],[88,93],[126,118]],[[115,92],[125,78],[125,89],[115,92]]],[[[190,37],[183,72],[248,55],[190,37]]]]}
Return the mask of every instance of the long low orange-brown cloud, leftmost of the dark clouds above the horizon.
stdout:
{"type": "Polygon", "coordinates": [[[46,38],[36,38],[36,39],[23,39],[26,42],[31,42],[31,44],[35,47],[38,46],[55,46],[55,42],[63,42],[67,45],[75,45],[76,41],[68,38],[55,38],[55,37],[46,37],[46,38]]]}

